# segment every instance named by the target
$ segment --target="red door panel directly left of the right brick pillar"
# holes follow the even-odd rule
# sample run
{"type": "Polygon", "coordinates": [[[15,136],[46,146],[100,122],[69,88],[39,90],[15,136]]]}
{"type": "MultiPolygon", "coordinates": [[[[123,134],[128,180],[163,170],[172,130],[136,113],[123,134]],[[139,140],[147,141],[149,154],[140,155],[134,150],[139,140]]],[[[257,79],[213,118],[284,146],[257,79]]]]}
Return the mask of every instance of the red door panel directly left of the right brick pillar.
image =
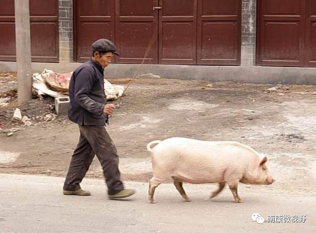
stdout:
{"type": "Polygon", "coordinates": [[[241,1],[198,0],[197,64],[239,65],[241,1]]]}

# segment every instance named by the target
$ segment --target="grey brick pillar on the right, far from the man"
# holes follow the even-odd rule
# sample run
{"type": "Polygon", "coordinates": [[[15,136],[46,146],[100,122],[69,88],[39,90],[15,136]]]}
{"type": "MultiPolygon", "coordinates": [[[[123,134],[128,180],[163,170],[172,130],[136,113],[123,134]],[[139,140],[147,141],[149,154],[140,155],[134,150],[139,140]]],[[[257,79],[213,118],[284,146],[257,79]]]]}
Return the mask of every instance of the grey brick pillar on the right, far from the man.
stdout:
{"type": "Polygon", "coordinates": [[[241,66],[255,65],[256,0],[242,0],[241,66]]]}

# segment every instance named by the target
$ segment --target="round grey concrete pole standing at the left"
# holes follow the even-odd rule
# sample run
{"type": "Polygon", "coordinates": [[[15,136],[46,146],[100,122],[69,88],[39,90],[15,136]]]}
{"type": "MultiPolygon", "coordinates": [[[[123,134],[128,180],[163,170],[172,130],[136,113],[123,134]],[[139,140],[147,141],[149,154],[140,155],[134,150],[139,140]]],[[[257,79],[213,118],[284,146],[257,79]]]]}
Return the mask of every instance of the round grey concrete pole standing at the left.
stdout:
{"type": "Polygon", "coordinates": [[[31,34],[29,0],[15,0],[17,100],[32,100],[31,34]]]}

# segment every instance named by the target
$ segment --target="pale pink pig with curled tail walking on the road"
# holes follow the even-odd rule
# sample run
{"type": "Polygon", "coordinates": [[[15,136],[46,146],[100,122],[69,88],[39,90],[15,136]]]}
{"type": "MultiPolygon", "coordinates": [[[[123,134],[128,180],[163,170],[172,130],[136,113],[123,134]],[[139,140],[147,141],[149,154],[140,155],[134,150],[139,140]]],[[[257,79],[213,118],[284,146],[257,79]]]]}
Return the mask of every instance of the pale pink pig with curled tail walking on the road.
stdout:
{"type": "Polygon", "coordinates": [[[238,182],[271,184],[274,179],[266,165],[268,159],[251,147],[234,141],[201,141],[172,137],[147,144],[152,155],[154,176],[149,183],[148,199],[154,201],[154,192],[160,183],[170,180],[186,201],[183,189],[186,183],[219,183],[210,199],[215,198],[227,183],[235,202],[242,202],[237,193],[238,182]],[[152,146],[157,144],[154,148],[152,146]]]}

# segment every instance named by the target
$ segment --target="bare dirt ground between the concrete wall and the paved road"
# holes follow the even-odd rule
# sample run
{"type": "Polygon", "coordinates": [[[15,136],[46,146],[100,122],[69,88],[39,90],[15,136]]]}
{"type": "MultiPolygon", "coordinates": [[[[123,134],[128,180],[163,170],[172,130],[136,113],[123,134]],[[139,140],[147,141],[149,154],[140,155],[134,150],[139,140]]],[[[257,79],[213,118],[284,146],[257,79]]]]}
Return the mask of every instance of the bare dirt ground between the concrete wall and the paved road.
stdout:
{"type": "MultiPolygon", "coordinates": [[[[128,79],[110,81],[126,85],[128,79]]],[[[4,86],[0,98],[12,92],[4,86]]],[[[147,143],[181,136],[245,143],[268,156],[274,188],[315,192],[316,86],[277,85],[268,91],[274,86],[134,80],[126,96],[114,101],[116,111],[107,127],[119,151],[123,179],[147,182],[152,176],[147,143]]],[[[51,104],[45,98],[18,105],[14,97],[0,107],[0,172],[65,176],[79,130],[66,117],[36,118],[54,113],[51,104]],[[34,124],[12,123],[15,107],[34,124]],[[7,136],[16,127],[19,131],[7,136]],[[6,160],[1,162],[1,156],[6,160]]],[[[88,177],[102,177],[96,159],[88,177]]]]}

